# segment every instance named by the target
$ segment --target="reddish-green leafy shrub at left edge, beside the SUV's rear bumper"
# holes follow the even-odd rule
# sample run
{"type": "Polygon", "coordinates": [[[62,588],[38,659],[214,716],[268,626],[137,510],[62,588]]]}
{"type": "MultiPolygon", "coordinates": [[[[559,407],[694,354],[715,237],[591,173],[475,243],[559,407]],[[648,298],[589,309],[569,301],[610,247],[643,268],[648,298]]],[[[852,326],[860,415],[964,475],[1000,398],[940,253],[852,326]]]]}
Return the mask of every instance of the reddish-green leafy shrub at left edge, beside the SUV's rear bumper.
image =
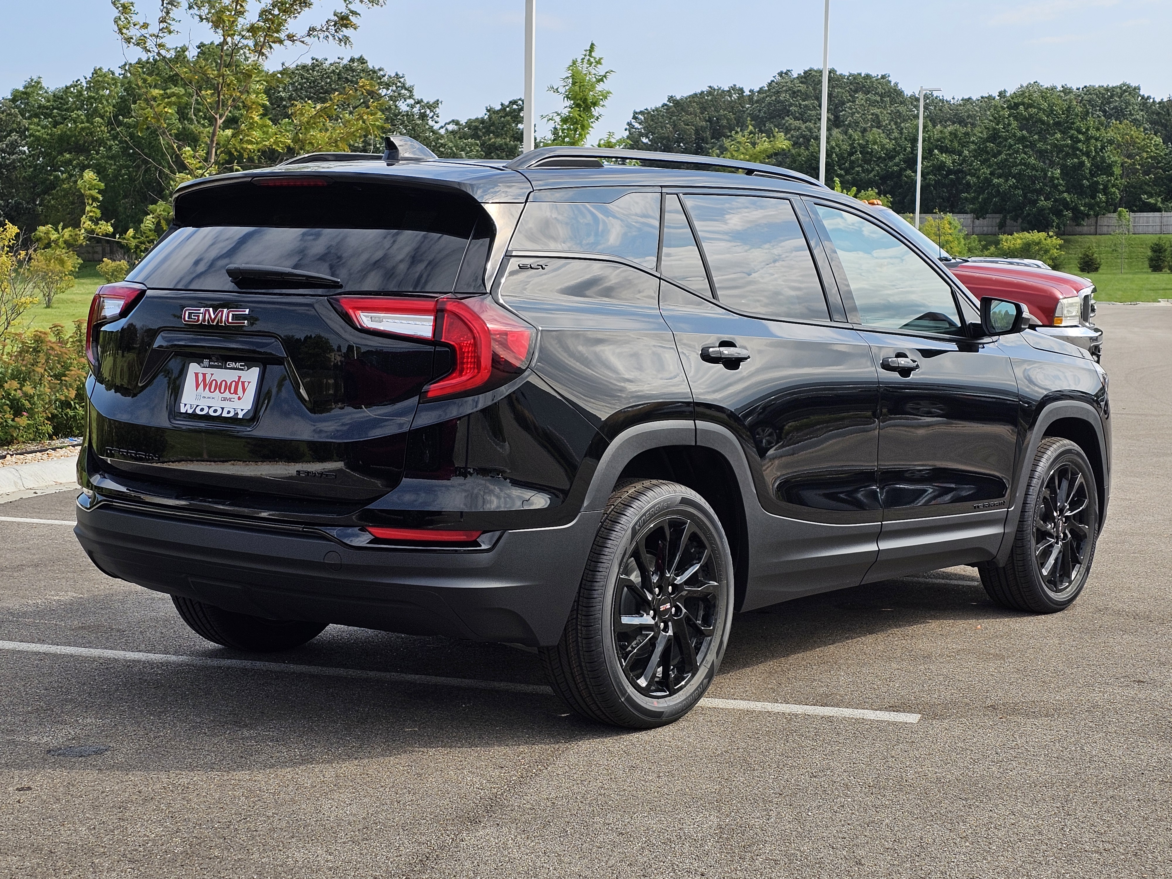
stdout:
{"type": "Polygon", "coordinates": [[[86,424],[86,322],[71,333],[13,333],[0,345],[0,445],[80,436],[86,424]]]}

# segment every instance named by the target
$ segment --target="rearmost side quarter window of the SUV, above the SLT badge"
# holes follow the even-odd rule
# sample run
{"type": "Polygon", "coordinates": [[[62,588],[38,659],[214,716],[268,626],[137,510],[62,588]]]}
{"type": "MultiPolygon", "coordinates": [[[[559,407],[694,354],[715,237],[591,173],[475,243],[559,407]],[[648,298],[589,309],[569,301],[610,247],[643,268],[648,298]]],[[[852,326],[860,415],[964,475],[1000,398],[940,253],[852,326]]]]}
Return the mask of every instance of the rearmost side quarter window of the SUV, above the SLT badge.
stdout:
{"type": "MultiPolygon", "coordinates": [[[[605,199],[614,193],[579,190],[557,195],[605,199]]],[[[657,192],[628,192],[609,203],[531,200],[509,246],[515,251],[605,253],[655,271],[659,207],[657,192]]]]}

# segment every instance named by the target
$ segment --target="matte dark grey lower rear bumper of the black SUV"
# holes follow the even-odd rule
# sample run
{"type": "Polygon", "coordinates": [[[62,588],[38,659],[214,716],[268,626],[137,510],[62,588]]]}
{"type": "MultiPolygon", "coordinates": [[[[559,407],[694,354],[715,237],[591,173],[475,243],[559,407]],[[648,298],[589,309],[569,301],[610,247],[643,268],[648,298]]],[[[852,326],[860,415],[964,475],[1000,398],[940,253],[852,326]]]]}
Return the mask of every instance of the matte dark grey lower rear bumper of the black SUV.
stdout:
{"type": "Polygon", "coordinates": [[[506,531],[489,550],[401,550],[80,502],[74,533],[94,564],[150,590],[270,619],[534,647],[560,640],[601,519],[506,531]]]}

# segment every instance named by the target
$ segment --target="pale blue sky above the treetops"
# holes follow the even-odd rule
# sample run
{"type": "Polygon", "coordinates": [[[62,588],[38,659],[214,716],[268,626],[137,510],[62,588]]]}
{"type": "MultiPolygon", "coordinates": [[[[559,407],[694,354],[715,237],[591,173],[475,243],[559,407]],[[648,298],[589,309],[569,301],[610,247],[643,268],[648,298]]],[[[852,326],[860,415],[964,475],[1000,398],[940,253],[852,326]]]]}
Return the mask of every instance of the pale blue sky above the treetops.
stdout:
{"type": "MultiPolygon", "coordinates": [[[[104,0],[0,0],[6,9],[0,94],[29,76],[61,86],[121,47],[104,0]]],[[[157,9],[139,0],[139,9],[157,9]]],[[[320,4],[326,8],[328,4],[320,4]]],[[[622,131],[632,110],[707,86],[756,87],[785,68],[822,64],[822,0],[538,0],[538,111],[543,91],[591,40],[614,68],[595,135],[622,131]]],[[[522,94],[524,0],[396,2],[363,14],[354,48],[398,70],[443,120],[478,115],[522,94]]],[[[1023,82],[1138,83],[1172,93],[1172,0],[831,0],[831,64],[888,73],[905,90],[980,95],[1023,82]]],[[[311,50],[333,57],[333,47],[311,50]]],[[[300,54],[300,53],[299,53],[300,54]]],[[[293,60],[294,54],[284,60],[293,60]]]]}

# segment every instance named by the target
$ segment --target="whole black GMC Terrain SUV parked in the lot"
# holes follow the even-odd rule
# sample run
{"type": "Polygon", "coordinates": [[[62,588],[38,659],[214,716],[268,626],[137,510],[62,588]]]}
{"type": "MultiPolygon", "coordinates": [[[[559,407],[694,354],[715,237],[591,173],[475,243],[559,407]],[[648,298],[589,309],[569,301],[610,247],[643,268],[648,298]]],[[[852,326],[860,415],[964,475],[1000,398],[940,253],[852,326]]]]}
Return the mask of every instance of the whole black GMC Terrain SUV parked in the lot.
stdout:
{"type": "Polygon", "coordinates": [[[77,538],[204,638],[527,645],[653,727],[735,611],[965,564],[1082,591],[1106,375],[1020,305],[783,169],[387,139],[184,184],[94,298],[77,538]]]}

